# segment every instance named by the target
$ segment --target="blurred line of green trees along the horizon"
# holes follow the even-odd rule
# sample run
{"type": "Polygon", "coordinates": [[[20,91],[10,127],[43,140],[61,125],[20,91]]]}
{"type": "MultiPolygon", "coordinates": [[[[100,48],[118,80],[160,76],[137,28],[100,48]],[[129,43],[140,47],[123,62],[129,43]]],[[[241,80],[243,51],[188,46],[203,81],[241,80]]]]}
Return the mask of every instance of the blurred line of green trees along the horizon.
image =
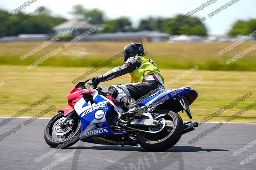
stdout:
{"type": "MultiPolygon", "coordinates": [[[[6,15],[8,11],[0,10],[0,17],[6,15]]],[[[179,14],[172,18],[163,18],[163,17],[148,17],[141,19],[137,27],[132,26],[132,22],[127,17],[120,17],[117,19],[108,19],[104,15],[103,11],[99,9],[88,10],[82,5],[75,5],[72,7],[70,12],[76,19],[85,19],[87,17],[92,17],[90,24],[97,25],[102,27],[101,30],[98,30],[98,33],[116,33],[116,32],[136,32],[136,31],[159,31],[162,33],[168,33],[171,35],[177,35],[179,32],[197,22],[200,18],[197,17],[188,17],[178,24],[170,26],[168,29],[164,29],[165,26],[179,19],[183,15],[179,14]]],[[[0,30],[4,29],[6,26],[11,25],[15,21],[19,20],[22,17],[25,17],[27,14],[19,12],[5,18],[0,23],[0,30]]],[[[51,16],[51,11],[45,9],[41,11],[36,16],[29,18],[20,25],[16,27],[11,27],[4,34],[0,36],[12,36],[18,34],[49,34],[54,33],[53,27],[57,26],[63,22],[67,21],[63,17],[53,17],[51,16]]],[[[235,37],[237,35],[248,35],[256,30],[256,19],[251,19],[249,21],[237,21],[230,31],[228,36],[235,37]]],[[[207,36],[207,28],[204,23],[197,25],[189,29],[185,35],[199,35],[207,36]]]]}

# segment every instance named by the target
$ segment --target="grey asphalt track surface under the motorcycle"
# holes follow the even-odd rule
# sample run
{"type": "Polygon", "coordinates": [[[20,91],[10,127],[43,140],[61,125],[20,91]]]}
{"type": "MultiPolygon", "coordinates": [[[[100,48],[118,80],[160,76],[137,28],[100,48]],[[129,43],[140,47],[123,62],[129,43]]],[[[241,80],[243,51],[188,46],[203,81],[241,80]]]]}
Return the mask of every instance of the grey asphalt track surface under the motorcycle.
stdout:
{"type": "MultiPolygon", "coordinates": [[[[0,122],[4,118],[0,118],[0,122]]],[[[75,145],[60,149],[38,163],[35,159],[52,148],[44,141],[44,127],[49,120],[37,119],[24,126],[26,119],[15,119],[0,127],[0,135],[21,125],[16,133],[0,141],[0,169],[42,169],[68,153],[74,155],[53,166],[52,169],[256,169],[256,159],[249,163],[239,163],[256,152],[256,144],[237,156],[233,152],[256,139],[256,124],[224,123],[196,143],[188,141],[202,131],[217,123],[204,123],[196,130],[184,134],[178,144],[165,152],[147,152],[140,146],[113,146],[77,142],[75,145]]]]}

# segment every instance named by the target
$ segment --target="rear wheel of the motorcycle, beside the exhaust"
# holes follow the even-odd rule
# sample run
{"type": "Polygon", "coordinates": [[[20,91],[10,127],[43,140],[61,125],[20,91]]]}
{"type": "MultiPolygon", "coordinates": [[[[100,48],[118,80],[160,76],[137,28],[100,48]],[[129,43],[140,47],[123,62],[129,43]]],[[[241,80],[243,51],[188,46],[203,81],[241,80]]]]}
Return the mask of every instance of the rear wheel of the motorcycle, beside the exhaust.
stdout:
{"type": "MultiPolygon", "coordinates": [[[[159,152],[171,148],[180,140],[183,132],[183,121],[180,115],[169,110],[155,110],[154,113],[165,114],[158,118],[159,121],[161,119],[165,120],[162,121],[166,123],[165,128],[157,134],[139,132],[137,139],[142,148],[152,152],[159,152]]],[[[149,130],[152,131],[154,129],[149,128],[149,130]]]]}

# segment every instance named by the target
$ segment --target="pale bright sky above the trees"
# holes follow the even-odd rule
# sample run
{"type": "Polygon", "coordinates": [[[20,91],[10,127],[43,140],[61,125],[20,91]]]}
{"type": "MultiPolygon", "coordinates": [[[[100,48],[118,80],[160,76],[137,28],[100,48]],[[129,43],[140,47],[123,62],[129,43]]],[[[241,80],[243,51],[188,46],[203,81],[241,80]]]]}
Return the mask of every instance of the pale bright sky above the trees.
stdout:
{"type": "MultiPolygon", "coordinates": [[[[0,0],[0,8],[11,11],[28,0],[0,0]]],[[[47,7],[52,11],[54,16],[73,18],[70,15],[71,7],[76,4],[82,4],[87,9],[98,8],[105,12],[107,18],[113,19],[120,16],[130,18],[134,26],[137,26],[141,18],[152,17],[173,17],[177,14],[186,14],[195,8],[206,3],[208,0],[98,0],[98,1],[59,1],[59,0],[37,0],[30,6],[22,9],[23,12],[30,13],[39,6],[47,7]]],[[[228,7],[224,11],[209,18],[207,15],[228,3],[230,0],[216,0],[211,4],[194,14],[199,18],[205,16],[204,22],[211,35],[224,35],[230,27],[239,19],[248,20],[256,18],[256,0],[240,0],[239,2],[228,7]]]]}

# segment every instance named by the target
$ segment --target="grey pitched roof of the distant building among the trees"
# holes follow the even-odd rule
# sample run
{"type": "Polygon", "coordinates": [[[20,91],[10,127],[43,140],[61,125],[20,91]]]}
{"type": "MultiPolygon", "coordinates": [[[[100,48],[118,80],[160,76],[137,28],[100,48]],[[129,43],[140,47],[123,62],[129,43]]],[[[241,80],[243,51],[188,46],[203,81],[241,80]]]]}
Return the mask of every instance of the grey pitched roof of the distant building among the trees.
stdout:
{"type": "MultiPolygon", "coordinates": [[[[81,22],[82,20],[78,20],[78,19],[72,19],[72,20],[68,20],[66,22],[61,23],[58,26],[54,26],[53,30],[67,30],[73,26],[76,25],[76,23],[81,22]]],[[[94,27],[95,25],[92,25],[90,23],[85,23],[84,25],[82,25],[81,27],[79,27],[78,29],[90,29],[92,27],[94,27]]]]}

